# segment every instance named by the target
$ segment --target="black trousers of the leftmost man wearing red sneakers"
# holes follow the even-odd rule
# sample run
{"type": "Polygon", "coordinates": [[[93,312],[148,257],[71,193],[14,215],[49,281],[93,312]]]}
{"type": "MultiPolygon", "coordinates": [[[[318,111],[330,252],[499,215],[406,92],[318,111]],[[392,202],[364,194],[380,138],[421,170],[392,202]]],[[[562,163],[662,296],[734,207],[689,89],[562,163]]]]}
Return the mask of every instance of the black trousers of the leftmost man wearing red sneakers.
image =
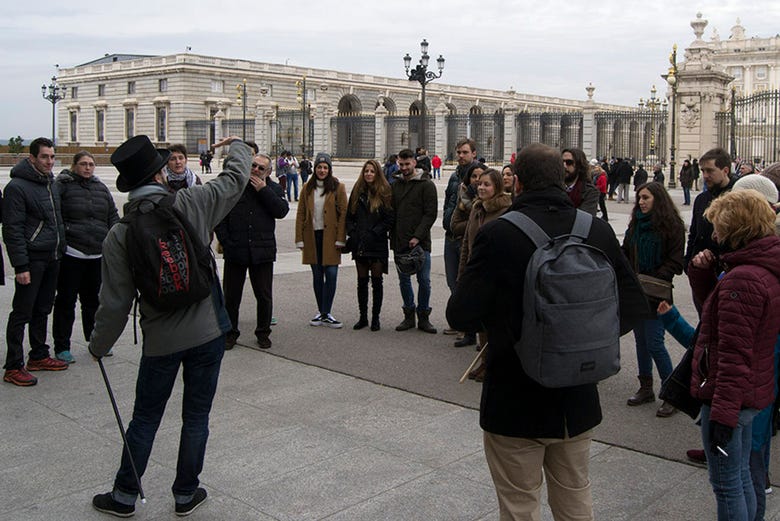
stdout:
{"type": "Polygon", "coordinates": [[[46,329],[49,313],[54,303],[54,291],[57,289],[57,275],[60,261],[31,261],[30,283],[19,284],[14,281],[14,299],[5,342],[8,351],[5,369],[20,369],[24,366],[24,327],[28,326],[30,340],[30,359],[41,360],[49,356],[46,345],[46,329]]]}

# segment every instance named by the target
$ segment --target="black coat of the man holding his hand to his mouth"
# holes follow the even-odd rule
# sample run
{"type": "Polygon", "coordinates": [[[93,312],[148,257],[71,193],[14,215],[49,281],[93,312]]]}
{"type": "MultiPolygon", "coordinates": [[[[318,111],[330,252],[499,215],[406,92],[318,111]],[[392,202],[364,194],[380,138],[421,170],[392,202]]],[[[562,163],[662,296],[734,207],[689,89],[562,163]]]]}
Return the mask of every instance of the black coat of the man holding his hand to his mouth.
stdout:
{"type": "Polygon", "coordinates": [[[290,210],[284,190],[270,177],[266,187],[249,183],[236,205],[214,231],[226,261],[252,266],[276,260],[276,219],[290,210]]]}

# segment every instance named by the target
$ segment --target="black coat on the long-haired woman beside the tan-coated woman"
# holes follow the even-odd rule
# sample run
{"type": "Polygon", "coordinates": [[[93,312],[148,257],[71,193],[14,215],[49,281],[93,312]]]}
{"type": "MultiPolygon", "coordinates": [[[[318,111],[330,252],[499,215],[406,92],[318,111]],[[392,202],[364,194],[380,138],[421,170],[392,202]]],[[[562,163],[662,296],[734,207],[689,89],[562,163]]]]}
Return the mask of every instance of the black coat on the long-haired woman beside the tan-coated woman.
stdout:
{"type": "Polygon", "coordinates": [[[352,212],[351,204],[347,212],[347,235],[352,258],[371,257],[387,263],[388,234],[393,228],[393,219],[392,208],[382,206],[379,211],[372,212],[366,193],[360,194],[355,212],[352,212]]]}

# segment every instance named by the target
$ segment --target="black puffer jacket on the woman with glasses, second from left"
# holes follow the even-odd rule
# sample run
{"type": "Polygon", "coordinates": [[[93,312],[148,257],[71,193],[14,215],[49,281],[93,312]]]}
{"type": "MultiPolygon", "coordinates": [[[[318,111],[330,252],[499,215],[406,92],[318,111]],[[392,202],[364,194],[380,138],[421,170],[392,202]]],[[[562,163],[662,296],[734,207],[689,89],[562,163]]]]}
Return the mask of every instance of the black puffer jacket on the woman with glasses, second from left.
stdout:
{"type": "Polygon", "coordinates": [[[119,221],[114,198],[96,176],[82,177],[68,169],[55,184],[62,200],[62,220],[68,246],[87,255],[103,251],[103,239],[119,221]]]}

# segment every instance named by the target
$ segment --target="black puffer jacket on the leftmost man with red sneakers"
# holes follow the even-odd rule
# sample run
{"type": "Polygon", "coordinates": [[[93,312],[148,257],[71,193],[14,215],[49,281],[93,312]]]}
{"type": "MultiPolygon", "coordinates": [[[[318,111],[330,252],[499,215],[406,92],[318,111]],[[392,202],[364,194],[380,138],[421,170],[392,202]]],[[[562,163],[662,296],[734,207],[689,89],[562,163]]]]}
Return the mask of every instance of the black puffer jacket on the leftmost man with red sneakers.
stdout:
{"type": "Polygon", "coordinates": [[[16,273],[30,262],[57,260],[65,253],[59,187],[54,176],[41,174],[27,159],[11,169],[3,197],[3,240],[16,273]]]}

